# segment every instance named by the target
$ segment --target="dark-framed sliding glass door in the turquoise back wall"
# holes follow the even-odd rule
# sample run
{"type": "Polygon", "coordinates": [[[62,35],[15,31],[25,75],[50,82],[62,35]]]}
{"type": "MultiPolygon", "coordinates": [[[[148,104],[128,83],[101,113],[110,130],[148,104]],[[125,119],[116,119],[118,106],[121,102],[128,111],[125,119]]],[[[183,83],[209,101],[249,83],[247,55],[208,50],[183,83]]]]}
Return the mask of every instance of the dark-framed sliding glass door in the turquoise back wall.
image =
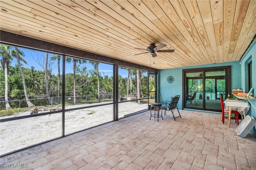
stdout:
{"type": "Polygon", "coordinates": [[[220,97],[230,91],[230,67],[183,70],[182,108],[221,111],[220,97]]]}

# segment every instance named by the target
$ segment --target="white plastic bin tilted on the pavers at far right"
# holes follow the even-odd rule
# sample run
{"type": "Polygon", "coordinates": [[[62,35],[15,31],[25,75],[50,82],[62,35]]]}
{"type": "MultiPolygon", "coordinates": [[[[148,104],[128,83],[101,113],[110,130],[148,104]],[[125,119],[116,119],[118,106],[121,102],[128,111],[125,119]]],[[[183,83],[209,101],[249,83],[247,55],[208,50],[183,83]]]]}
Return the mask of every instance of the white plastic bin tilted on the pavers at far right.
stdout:
{"type": "Polygon", "coordinates": [[[256,119],[254,117],[247,115],[244,120],[236,128],[236,133],[244,138],[250,130],[255,126],[256,119]]]}

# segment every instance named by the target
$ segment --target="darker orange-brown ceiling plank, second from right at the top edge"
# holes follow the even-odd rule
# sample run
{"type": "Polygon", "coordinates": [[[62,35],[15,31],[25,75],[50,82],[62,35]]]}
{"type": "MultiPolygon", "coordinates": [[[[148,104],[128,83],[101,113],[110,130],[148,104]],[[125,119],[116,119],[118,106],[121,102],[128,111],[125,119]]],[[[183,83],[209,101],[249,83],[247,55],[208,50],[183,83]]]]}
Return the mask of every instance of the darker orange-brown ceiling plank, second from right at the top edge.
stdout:
{"type": "Polygon", "coordinates": [[[234,17],[234,24],[232,28],[231,40],[230,40],[230,47],[228,51],[228,56],[230,57],[230,61],[233,59],[234,51],[236,48],[236,44],[238,41],[238,37],[241,33],[242,25],[244,22],[244,18],[246,16],[246,11],[248,9],[250,0],[242,0],[237,1],[236,3],[236,12],[234,17]]]}

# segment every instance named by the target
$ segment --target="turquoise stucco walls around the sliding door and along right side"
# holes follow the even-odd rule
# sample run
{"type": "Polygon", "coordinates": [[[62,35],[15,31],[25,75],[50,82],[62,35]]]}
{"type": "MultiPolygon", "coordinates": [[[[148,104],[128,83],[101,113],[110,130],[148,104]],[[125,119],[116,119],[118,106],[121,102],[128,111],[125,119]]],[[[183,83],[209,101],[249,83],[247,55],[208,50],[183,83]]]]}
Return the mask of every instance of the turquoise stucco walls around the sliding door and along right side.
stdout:
{"type": "MultiPolygon", "coordinates": [[[[170,98],[175,95],[180,95],[178,103],[178,109],[182,109],[182,69],[193,69],[203,67],[220,67],[220,66],[231,66],[231,89],[242,89],[244,93],[248,92],[248,72],[247,64],[252,61],[252,87],[254,87],[254,97],[256,96],[256,39],[250,45],[244,56],[240,61],[198,65],[192,67],[181,67],[175,69],[164,69],[158,72],[158,102],[170,101],[170,98]],[[173,83],[167,82],[167,77],[174,77],[173,83]]],[[[256,105],[256,100],[251,100],[256,105]]],[[[251,107],[248,115],[256,118],[256,111],[251,107]]],[[[256,129],[252,129],[252,133],[256,137],[256,129]]]]}

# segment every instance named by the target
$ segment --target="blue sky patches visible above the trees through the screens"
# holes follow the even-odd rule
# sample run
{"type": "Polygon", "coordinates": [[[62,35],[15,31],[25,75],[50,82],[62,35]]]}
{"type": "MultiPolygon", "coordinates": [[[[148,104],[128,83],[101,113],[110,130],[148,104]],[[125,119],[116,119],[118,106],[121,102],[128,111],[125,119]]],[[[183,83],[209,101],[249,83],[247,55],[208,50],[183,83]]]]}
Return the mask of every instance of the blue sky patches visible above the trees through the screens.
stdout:
{"type": "MultiPolygon", "coordinates": [[[[35,51],[35,50],[30,50],[30,49],[25,49],[25,48],[20,48],[20,47],[18,49],[20,49],[24,52],[24,56],[22,58],[24,58],[28,63],[28,64],[25,64],[25,63],[21,62],[23,67],[31,68],[33,66],[33,67],[35,67],[36,70],[44,70],[43,65],[44,65],[44,58],[46,55],[45,52],[35,51]]],[[[53,55],[54,55],[53,53],[49,53],[48,59],[50,57],[52,57],[53,55]]],[[[12,61],[11,65],[14,66],[16,64],[17,64],[17,61],[16,61],[16,59],[14,59],[12,61]]],[[[52,73],[58,74],[57,60],[54,61],[54,63],[52,65],[53,65],[52,73]]],[[[94,69],[94,67],[90,63],[86,63],[83,65],[86,65],[87,70],[94,69]]],[[[62,61],[60,63],[60,68],[62,68],[62,61]]],[[[112,76],[113,75],[113,65],[99,63],[99,71],[100,71],[101,75],[103,75],[103,73],[104,73],[104,75],[112,76]]],[[[124,69],[119,69],[118,72],[122,77],[128,76],[128,71],[126,71],[124,69]]],[[[72,62],[71,63],[66,62],[66,73],[73,73],[73,63],[72,62]]]]}

